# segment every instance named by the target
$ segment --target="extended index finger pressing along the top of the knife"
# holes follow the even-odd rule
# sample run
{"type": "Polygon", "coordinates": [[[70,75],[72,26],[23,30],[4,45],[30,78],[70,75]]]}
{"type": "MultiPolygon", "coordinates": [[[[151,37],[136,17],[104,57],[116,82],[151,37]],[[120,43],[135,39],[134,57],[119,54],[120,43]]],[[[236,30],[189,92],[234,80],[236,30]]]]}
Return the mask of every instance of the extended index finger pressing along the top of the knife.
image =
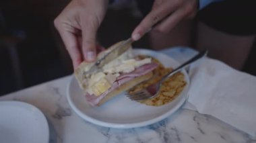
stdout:
{"type": "MultiPolygon", "coordinates": [[[[131,38],[133,40],[139,40],[144,34],[152,29],[152,27],[164,19],[169,13],[174,11],[177,8],[175,3],[166,3],[166,1],[162,2],[161,6],[156,6],[146,17],[139,23],[139,26],[133,30],[131,38]]],[[[156,5],[156,4],[154,4],[156,5]]]]}

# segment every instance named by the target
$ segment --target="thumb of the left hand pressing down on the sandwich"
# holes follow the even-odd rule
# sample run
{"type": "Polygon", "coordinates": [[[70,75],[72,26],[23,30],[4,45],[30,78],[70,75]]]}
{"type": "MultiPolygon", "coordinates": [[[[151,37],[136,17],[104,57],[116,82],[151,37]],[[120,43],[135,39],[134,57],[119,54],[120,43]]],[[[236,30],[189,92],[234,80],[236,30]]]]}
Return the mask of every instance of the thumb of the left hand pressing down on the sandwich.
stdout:
{"type": "Polygon", "coordinates": [[[99,24],[94,21],[82,22],[82,52],[84,59],[92,62],[96,59],[96,33],[99,24]]]}

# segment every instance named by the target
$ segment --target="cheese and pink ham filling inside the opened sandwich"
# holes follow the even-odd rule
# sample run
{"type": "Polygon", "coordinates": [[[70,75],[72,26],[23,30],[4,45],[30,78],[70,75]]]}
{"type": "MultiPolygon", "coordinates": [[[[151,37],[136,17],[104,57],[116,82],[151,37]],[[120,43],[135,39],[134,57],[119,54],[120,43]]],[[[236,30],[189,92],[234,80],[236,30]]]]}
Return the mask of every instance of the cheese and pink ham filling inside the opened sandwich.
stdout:
{"type": "Polygon", "coordinates": [[[97,105],[108,93],[136,77],[150,73],[158,64],[151,58],[136,58],[131,48],[92,73],[86,75],[86,99],[90,105],[97,105]]]}

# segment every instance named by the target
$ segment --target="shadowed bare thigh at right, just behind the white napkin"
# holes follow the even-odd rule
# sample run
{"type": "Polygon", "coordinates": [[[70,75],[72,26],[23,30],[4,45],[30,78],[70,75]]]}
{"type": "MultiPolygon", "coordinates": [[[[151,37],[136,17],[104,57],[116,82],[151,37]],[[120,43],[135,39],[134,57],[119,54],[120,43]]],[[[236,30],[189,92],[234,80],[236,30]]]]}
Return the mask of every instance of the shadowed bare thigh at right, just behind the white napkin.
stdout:
{"type": "Polygon", "coordinates": [[[197,23],[197,50],[207,48],[208,56],[222,60],[233,68],[241,70],[253,46],[255,36],[233,36],[197,23]]]}

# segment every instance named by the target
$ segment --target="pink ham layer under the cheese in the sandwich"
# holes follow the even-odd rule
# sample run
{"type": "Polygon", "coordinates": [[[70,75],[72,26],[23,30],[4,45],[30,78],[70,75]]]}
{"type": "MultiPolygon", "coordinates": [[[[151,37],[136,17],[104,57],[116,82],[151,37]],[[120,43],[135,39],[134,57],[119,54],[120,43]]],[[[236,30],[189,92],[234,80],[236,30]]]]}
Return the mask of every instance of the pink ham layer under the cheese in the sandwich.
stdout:
{"type": "Polygon", "coordinates": [[[139,77],[141,75],[146,75],[147,73],[150,73],[157,66],[158,66],[158,64],[156,64],[156,63],[145,64],[143,66],[135,68],[135,70],[133,70],[131,73],[125,73],[123,75],[120,75],[119,77],[117,77],[117,80],[113,83],[112,87],[110,87],[110,89],[108,89],[108,91],[102,93],[99,96],[87,94],[86,95],[86,100],[88,101],[88,103],[90,103],[90,105],[95,106],[108,93],[117,89],[117,87],[123,85],[124,83],[127,83],[128,81],[131,81],[132,79],[135,79],[136,77],[139,77]]]}

